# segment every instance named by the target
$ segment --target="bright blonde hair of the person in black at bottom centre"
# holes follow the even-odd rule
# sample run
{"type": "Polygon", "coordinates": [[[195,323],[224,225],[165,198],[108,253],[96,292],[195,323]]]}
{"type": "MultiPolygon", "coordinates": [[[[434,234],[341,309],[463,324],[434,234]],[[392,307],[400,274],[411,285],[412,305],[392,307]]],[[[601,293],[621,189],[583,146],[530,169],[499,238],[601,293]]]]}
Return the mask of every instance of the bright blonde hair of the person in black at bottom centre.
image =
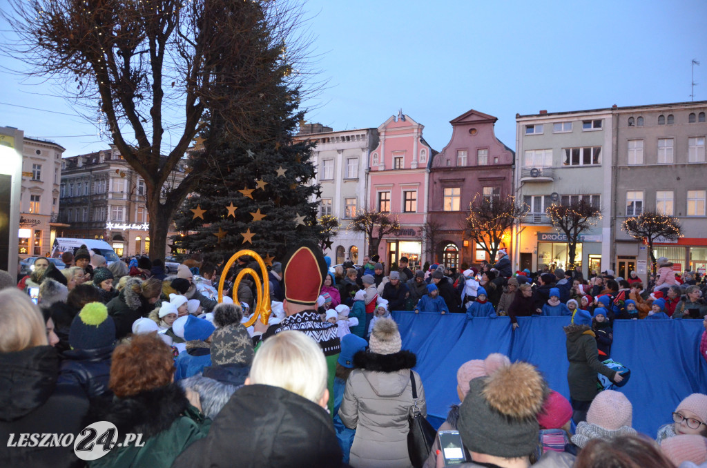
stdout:
{"type": "Polygon", "coordinates": [[[287,330],[264,341],[255,353],[250,381],[284,388],[318,404],[327,389],[327,361],[316,341],[287,330]]]}

